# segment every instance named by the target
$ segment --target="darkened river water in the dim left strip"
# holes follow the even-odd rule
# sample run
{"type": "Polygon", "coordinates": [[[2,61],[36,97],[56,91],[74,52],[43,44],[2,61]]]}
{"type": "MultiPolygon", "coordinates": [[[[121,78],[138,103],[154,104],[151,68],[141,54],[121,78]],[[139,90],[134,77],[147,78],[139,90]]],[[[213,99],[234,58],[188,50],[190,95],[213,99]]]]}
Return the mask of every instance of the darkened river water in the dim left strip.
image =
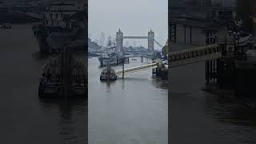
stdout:
{"type": "Polygon", "coordinates": [[[0,29],[0,143],[86,143],[86,100],[38,98],[49,59],[40,58],[31,26],[0,29]]]}

